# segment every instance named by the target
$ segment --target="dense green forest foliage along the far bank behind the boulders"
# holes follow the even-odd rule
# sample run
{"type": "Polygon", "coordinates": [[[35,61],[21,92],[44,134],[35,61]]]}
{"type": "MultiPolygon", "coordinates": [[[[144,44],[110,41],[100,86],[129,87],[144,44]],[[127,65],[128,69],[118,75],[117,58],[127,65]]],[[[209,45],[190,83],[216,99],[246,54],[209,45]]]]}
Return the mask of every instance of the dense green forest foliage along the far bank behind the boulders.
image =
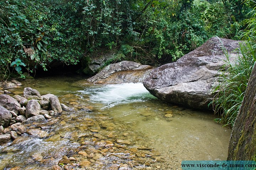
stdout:
{"type": "Polygon", "coordinates": [[[250,1],[0,1],[0,75],[76,64],[98,49],[139,61],[175,61],[212,36],[238,39],[250,1]],[[12,62],[23,63],[17,67],[12,62]],[[17,70],[18,69],[18,70],[17,70]]]}

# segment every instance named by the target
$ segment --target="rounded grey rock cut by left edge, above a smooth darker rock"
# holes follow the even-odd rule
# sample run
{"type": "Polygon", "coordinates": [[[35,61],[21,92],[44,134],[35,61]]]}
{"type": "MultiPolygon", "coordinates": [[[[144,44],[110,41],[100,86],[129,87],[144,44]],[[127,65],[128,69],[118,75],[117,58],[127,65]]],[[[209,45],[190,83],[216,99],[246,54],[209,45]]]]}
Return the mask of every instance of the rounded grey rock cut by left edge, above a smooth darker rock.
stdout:
{"type": "Polygon", "coordinates": [[[0,105],[9,111],[14,111],[18,114],[18,109],[21,107],[13,97],[9,95],[0,95],[0,105]]]}

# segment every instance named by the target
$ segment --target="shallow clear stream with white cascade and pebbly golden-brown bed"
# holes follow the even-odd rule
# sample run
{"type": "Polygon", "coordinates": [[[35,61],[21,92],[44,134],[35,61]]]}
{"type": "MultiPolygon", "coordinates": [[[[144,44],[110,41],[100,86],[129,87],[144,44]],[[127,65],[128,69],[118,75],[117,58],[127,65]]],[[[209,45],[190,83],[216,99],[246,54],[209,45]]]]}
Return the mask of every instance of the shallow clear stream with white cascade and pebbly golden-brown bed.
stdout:
{"type": "Polygon", "coordinates": [[[143,84],[85,85],[79,79],[22,82],[72,109],[26,124],[47,137],[23,134],[0,147],[0,169],[181,169],[182,160],[226,159],[231,130],[215,123],[216,115],[163,103],[143,84]]]}

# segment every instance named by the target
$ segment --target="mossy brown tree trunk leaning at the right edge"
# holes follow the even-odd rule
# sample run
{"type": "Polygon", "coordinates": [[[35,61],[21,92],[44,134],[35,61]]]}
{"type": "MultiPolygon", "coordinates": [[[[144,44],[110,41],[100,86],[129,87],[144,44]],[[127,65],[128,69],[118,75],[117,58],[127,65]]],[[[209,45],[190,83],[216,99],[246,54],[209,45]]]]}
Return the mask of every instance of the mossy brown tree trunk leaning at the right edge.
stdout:
{"type": "Polygon", "coordinates": [[[256,161],[256,65],[229,142],[228,160],[256,161]]]}

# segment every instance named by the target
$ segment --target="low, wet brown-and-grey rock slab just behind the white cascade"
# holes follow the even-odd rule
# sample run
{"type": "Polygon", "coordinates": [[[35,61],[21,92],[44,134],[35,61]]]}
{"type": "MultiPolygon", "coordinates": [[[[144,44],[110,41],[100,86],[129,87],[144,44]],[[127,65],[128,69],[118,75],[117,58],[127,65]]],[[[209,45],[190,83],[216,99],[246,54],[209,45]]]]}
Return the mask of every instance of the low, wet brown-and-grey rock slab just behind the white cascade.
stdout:
{"type": "Polygon", "coordinates": [[[95,84],[141,83],[153,68],[132,61],[122,61],[106,66],[101,72],[87,79],[95,84]]]}

